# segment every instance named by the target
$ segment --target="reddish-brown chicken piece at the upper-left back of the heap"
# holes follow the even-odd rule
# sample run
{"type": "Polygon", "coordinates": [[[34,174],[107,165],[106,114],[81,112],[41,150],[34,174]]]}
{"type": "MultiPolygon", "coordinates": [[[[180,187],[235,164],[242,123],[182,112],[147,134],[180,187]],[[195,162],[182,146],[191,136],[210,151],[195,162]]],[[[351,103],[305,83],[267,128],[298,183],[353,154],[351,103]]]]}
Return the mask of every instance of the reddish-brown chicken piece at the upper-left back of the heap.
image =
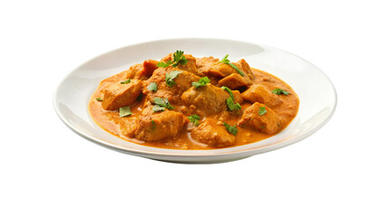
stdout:
{"type": "Polygon", "coordinates": [[[153,72],[158,68],[156,65],[159,61],[147,60],[142,64],[135,64],[127,71],[126,79],[147,80],[153,72]]]}

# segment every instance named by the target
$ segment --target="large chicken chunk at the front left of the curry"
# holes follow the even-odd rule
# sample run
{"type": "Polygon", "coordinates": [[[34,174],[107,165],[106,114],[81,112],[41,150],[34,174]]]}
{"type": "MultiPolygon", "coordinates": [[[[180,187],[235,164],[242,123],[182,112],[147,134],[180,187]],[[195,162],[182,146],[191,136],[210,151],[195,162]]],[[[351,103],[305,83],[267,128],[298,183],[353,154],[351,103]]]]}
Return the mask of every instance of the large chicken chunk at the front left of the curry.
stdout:
{"type": "Polygon", "coordinates": [[[175,137],[186,121],[182,113],[168,109],[154,113],[152,106],[149,106],[137,119],[135,137],[147,142],[175,137]]]}

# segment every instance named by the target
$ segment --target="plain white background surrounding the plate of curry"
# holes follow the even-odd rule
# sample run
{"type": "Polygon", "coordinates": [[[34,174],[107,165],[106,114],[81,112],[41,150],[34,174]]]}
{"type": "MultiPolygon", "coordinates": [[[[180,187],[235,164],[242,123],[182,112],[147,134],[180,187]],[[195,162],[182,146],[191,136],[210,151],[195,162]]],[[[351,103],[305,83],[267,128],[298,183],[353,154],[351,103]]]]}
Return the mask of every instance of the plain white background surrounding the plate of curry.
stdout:
{"type": "Polygon", "coordinates": [[[0,216],[385,216],[382,1],[2,1],[0,216]],[[128,156],[73,133],[52,94],[136,42],[210,37],[314,63],[338,105],[312,137],[217,165],[128,156]]]}

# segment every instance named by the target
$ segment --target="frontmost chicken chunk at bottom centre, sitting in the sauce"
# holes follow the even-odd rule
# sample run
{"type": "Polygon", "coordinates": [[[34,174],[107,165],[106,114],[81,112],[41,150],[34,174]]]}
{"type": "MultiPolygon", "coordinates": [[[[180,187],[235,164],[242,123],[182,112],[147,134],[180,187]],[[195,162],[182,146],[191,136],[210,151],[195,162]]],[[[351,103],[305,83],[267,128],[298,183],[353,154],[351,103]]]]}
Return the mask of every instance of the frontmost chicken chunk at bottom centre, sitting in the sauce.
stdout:
{"type": "Polygon", "coordinates": [[[194,140],[209,146],[231,146],[235,143],[235,136],[226,127],[217,124],[218,120],[206,118],[198,127],[194,127],[191,136],[194,140]]]}

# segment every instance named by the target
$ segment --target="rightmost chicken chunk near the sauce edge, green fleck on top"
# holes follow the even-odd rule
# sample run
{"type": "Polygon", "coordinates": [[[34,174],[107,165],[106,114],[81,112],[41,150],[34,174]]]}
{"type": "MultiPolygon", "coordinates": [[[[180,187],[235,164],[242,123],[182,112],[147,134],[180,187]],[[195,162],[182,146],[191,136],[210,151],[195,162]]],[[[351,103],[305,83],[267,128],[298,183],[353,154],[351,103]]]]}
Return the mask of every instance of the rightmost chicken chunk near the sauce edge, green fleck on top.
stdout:
{"type": "Polygon", "coordinates": [[[240,127],[258,130],[263,133],[272,134],[279,128],[276,113],[264,104],[255,102],[248,109],[245,109],[240,118],[238,125],[240,127]],[[266,109],[266,113],[262,114],[260,110],[266,109]],[[259,115],[261,114],[261,115],[259,115]]]}

